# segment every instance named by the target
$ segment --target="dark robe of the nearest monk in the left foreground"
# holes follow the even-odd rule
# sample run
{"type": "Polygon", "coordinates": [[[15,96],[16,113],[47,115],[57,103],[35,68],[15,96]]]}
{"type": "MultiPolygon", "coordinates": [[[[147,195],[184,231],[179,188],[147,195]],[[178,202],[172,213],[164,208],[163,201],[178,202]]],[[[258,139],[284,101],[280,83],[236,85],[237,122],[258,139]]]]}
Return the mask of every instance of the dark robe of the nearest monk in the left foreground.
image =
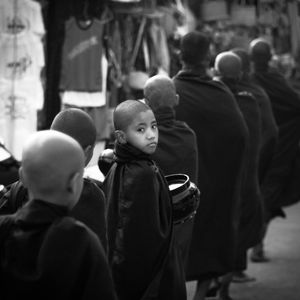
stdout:
{"type": "Polygon", "coordinates": [[[32,200],[1,216],[0,245],[3,300],[116,299],[99,239],[63,206],[32,200]]]}

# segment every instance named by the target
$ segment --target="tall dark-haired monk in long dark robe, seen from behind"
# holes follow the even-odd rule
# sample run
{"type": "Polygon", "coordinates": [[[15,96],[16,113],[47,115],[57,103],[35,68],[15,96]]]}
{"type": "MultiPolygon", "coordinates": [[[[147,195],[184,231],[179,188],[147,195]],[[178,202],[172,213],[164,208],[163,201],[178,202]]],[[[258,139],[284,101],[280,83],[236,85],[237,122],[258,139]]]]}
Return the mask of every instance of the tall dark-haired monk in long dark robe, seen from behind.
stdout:
{"type": "Polygon", "coordinates": [[[179,120],[196,133],[198,187],[187,280],[197,280],[194,299],[204,299],[212,278],[234,269],[241,174],[248,130],[233,94],[207,75],[210,41],[190,32],[181,41],[183,69],[174,77],[179,120]]]}

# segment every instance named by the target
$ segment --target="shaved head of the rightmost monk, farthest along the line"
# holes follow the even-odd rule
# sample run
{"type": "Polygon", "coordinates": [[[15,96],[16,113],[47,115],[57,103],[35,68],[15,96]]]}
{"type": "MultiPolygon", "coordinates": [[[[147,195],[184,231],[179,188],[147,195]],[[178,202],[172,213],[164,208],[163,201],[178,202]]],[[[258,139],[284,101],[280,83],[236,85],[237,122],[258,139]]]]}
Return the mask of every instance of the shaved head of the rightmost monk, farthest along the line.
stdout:
{"type": "Polygon", "coordinates": [[[249,54],[254,64],[268,64],[272,58],[270,44],[263,38],[257,38],[250,42],[249,54]]]}

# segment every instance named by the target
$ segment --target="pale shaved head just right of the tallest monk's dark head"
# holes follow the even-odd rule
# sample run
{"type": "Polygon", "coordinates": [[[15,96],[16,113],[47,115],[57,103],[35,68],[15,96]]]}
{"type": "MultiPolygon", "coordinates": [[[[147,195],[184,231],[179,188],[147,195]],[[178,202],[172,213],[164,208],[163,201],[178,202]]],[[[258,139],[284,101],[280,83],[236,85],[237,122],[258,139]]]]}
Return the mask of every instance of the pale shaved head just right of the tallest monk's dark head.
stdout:
{"type": "Polygon", "coordinates": [[[224,78],[236,79],[241,75],[242,62],[233,52],[222,52],[215,59],[215,69],[224,78]]]}

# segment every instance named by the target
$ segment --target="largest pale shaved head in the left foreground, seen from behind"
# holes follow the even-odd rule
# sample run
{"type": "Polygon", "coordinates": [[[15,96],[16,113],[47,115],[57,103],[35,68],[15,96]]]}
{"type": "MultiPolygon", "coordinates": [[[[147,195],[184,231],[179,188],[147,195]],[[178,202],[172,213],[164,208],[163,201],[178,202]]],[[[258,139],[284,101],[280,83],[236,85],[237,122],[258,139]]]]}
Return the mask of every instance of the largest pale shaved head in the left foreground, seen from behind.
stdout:
{"type": "Polygon", "coordinates": [[[29,199],[39,199],[71,209],[83,185],[84,153],[72,137],[55,131],[38,131],[26,141],[20,179],[29,199]]]}

